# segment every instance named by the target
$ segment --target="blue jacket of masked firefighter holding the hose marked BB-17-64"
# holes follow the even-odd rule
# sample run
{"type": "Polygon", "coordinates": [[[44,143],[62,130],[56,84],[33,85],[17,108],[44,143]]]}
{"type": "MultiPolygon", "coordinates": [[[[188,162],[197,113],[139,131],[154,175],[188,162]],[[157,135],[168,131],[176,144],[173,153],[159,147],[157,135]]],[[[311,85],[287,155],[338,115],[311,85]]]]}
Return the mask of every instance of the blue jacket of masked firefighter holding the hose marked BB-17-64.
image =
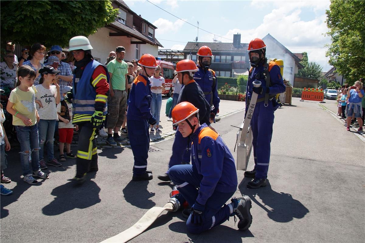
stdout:
{"type": "MultiPolygon", "coordinates": [[[[285,91],[285,85],[283,82],[283,77],[281,77],[281,73],[280,73],[280,67],[276,64],[276,62],[271,61],[269,63],[269,68],[268,71],[270,73],[270,82],[271,82],[271,87],[269,87],[270,91],[269,94],[280,94],[283,93],[285,91]]],[[[260,65],[258,67],[253,68],[252,72],[251,72],[251,76],[249,77],[249,80],[247,82],[247,88],[246,88],[246,94],[247,97],[249,97],[251,99],[252,97],[252,88],[253,88],[253,81],[261,81],[261,86],[265,86],[266,87],[266,81],[263,75],[261,75],[260,79],[255,79],[257,74],[261,74],[262,72],[264,72],[264,66],[260,65]]],[[[265,94],[259,94],[258,95],[258,99],[265,97],[265,94]]]]}

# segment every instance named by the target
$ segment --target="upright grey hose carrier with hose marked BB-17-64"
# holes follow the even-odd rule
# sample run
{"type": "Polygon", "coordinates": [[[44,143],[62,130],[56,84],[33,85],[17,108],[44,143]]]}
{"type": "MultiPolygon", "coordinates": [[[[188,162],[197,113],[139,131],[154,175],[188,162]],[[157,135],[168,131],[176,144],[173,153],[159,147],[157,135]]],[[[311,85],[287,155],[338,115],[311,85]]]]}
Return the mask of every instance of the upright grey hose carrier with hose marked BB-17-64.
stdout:
{"type": "MultiPolygon", "coordinates": [[[[253,82],[254,87],[260,87],[260,81],[253,82]]],[[[236,160],[236,169],[241,171],[246,171],[247,164],[249,162],[251,150],[252,150],[252,130],[251,130],[251,119],[253,116],[253,112],[255,110],[257,96],[255,92],[252,93],[251,101],[249,106],[246,108],[246,117],[243,120],[238,132],[237,132],[237,160],[236,160]]],[[[247,98],[247,97],[246,97],[247,98]]]]}

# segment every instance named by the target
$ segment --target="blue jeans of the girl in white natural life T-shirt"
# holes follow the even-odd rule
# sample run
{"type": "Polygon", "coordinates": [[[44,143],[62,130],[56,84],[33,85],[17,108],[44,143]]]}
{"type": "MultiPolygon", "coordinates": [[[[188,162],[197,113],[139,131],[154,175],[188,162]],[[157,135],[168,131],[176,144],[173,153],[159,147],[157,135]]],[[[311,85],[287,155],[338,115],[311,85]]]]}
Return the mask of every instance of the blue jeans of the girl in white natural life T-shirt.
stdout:
{"type": "Polygon", "coordinates": [[[53,136],[55,127],[56,120],[41,119],[38,123],[39,147],[41,148],[41,151],[39,152],[39,160],[43,160],[44,146],[46,142],[48,161],[51,161],[54,158],[53,136]]]}

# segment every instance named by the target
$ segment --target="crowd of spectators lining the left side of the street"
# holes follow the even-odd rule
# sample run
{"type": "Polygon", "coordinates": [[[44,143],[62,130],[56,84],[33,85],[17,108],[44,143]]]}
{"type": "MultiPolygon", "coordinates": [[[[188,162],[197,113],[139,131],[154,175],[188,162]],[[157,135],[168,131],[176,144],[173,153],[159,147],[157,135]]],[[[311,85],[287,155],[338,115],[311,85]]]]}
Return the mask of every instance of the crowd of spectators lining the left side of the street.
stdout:
{"type": "MultiPolygon", "coordinates": [[[[47,48],[40,43],[33,44],[30,50],[23,48],[19,57],[14,51],[15,44],[7,43],[1,62],[1,183],[11,182],[5,176],[5,151],[11,149],[9,140],[16,136],[20,144],[23,180],[37,184],[37,178],[49,178],[42,171],[47,166],[62,166],[62,161],[77,158],[70,144],[78,126],[73,123],[72,103],[65,99],[73,88],[75,53],[65,54],[58,45],[51,46],[47,52],[47,48]],[[54,153],[54,141],[59,144],[58,158],[54,153]]],[[[142,72],[137,60],[124,61],[125,52],[124,47],[116,47],[104,63],[110,77],[108,115],[96,135],[106,137],[107,144],[111,146],[126,141],[126,138],[119,136],[119,132],[128,136],[127,101],[133,81],[142,72]]],[[[165,90],[165,80],[160,72],[161,67],[157,66],[154,75],[149,78],[153,95],[151,112],[157,119],[150,130],[157,133],[162,132],[159,115],[162,91],[165,90]]],[[[174,82],[178,83],[176,78],[174,82]]],[[[170,106],[167,116],[171,117],[174,105],[170,106]]],[[[11,193],[1,184],[1,195],[11,193]]]]}

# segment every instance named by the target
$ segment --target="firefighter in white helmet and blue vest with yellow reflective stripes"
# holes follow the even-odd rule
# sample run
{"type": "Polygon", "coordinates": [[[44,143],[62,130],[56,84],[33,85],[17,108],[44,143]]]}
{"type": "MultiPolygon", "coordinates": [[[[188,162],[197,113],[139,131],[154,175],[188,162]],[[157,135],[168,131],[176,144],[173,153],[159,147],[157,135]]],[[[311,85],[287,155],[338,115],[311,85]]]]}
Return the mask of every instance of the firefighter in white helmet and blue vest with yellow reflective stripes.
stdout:
{"type": "Polygon", "coordinates": [[[73,103],[73,123],[78,125],[76,176],[82,183],[89,171],[97,171],[95,131],[107,114],[109,74],[103,64],[93,59],[92,46],[85,36],[75,36],[69,41],[69,50],[76,59],[73,89],[67,93],[73,103]]]}

